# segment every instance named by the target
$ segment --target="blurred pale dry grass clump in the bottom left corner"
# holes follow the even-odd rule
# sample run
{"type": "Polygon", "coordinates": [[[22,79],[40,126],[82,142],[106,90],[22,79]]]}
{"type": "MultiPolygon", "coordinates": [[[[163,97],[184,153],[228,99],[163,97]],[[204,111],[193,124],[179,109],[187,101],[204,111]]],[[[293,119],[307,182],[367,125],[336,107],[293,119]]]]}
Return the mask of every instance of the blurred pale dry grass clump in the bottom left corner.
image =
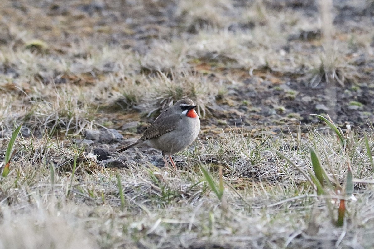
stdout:
{"type": "Polygon", "coordinates": [[[43,208],[14,212],[6,207],[1,208],[1,214],[2,249],[99,248],[82,224],[68,215],[61,217],[43,208]]]}

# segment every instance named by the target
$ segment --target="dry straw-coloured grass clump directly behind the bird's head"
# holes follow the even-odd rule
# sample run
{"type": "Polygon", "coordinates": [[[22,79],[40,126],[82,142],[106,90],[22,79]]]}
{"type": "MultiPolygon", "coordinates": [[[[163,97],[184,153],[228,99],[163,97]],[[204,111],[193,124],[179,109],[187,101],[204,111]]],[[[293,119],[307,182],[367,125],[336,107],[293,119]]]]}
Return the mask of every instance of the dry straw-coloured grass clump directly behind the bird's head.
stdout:
{"type": "Polygon", "coordinates": [[[205,117],[209,106],[215,105],[215,98],[224,93],[223,83],[214,81],[214,78],[191,71],[172,72],[171,75],[159,71],[155,76],[112,79],[109,89],[117,96],[114,105],[121,108],[130,107],[151,115],[180,99],[190,98],[196,104],[199,116],[205,117]]]}

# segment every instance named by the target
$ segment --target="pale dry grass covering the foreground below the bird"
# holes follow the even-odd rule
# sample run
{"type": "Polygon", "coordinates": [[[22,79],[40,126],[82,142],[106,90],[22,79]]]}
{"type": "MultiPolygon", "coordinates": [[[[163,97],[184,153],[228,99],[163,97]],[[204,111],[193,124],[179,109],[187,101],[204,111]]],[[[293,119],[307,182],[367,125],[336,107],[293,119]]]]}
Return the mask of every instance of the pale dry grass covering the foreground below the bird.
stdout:
{"type": "MultiPolygon", "coordinates": [[[[374,143],[374,136],[369,137],[370,143],[374,143]]],[[[298,145],[295,150],[283,147],[282,153],[301,168],[310,169],[307,148],[316,143],[328,174],[343,181],[348,160],[355,177],[371,180],[364,142],[356,136],[353,140],[356,144],[349,158],[341,153],[335,136],[319,132],[312,132],[307,140],[282,138],[282,143],[298,145]]],[[[169,243],[227,246],[229,241],[237,246],[256,245],[262,241],[267,246],[288,244],[296,248],[298,243],[303,243],[303,238],[318,234],[321,240],[314,237],[310,241],[312,245],[321,241],[328,245],[338,243],[342,232],[328,221],[324,200],[315,197],[306,178],[275,154],[274,149],[278,149],[279,144],[276,140],[254,141],[234,131],[224,133],[216,143],[209,142],[194,153],[185,154],[187,167],[181,172],[181,178],[146,165],[104,169],[96,166],[94,157],[63,143],[34,142],[31,147],[30,141],[20,142],[16,145],[19,152],[9,176],[1,179],[1,203],[6,204],[1,211],[4,217],[1,225],[8,227],[1,240],[4,248],[9,248],[7,245],[16,232],[22,232],[25,237],[17,242],[19,245],[12,244],[10,248],[21,248],[25,243],[42,248],[54,243],[76,248],[78,242],[87,246],[98,243],[101,248],[136,247],[139,243],[162,247],[169,243]],[[78,159],[78,164],[72,174],[74,158],[78,159]],[[200,162],[208,162],[213,175],[218,174],[214,164],[225,165],[224,193],[228,204],[221,203],[211,192],[199,171],[200,162]],[[53,164],[55,170],[51,171],[53,164]],[[120,174],[123,204],[116,174],[120,174]],[[307,217],[313,212],[318,214],[309,220],[307,217]],[[17,225],[21,220],[22,225],[17,225]],[[271,227],[267,225],[269,222],[271,227]],[[307,230],[310,222],[319,226],[315,234],[307,230]],[[255,225],[248,230],[246,224],[255,225]],[[63,233],[55,236],[56,229],[63,233]],[[80,235],[82,229],[86,232],[80,235]],[[45,234],[51,234],[48,240],[45,234]],[[301,236],[293,236],[296,234],[301,236]],[[92,236],[96,242],[88,241],[92,236]],[[68,237],[71,239],[67,241],[68,237]],[[195,239],[193,242],[187,238],[195,239]]],[[[2,140],[2,144],[4,146],[6,140],[2,140]]],[[[363,190],[355,192],[358,200],[348,203],[350,212],[343,228],[346,236],[338,245],[353,243],[359,227],[372,225],[366,218],[367,212],[371,212],[370,191],[367,190],[372,187],[361,184],[360,189],[362,187],[363,190]]],[[[369,243],[365,234],[367,232],[361,235],[360,241],[369,243]]]]}

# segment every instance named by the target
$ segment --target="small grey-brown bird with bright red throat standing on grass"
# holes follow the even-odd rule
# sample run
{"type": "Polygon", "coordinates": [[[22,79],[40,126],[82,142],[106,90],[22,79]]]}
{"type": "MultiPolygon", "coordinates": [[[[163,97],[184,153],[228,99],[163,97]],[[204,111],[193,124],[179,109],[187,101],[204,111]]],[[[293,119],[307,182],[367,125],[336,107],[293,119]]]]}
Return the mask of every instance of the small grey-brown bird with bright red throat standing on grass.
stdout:
{"type": "Polygon", "coordinates": [[[165,166],[168,165],[166,155],[177,171],[177,166],[171,155],[184,150],[197,137],[200,131],[200,119],[194,110],[196,106],[190,99],[181,99],[174,106],[163,111],[156,120],[145,129],[144,134],[135,143],[132,143],[117,152],[132,147],[148,146],[161,150],[165,166]]]}

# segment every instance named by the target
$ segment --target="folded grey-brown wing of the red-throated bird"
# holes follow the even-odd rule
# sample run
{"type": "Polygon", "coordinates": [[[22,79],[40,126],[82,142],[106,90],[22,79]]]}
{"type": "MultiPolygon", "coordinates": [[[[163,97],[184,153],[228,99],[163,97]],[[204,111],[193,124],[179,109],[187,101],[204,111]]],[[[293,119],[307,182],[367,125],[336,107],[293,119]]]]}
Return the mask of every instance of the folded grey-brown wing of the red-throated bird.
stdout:
{"type": "Polygon", "coordinates": [[[165,110],[156,118],[156,120],[145,129],[144,134],[139,140],[144,141],[147,139],[159,137],[165,133],[168,133],[172,130],[175,130],[178,126],[178,122],[180,122],[180,117],[177,119],[174,118],[167,118],[168,112],[165,110]]]}

